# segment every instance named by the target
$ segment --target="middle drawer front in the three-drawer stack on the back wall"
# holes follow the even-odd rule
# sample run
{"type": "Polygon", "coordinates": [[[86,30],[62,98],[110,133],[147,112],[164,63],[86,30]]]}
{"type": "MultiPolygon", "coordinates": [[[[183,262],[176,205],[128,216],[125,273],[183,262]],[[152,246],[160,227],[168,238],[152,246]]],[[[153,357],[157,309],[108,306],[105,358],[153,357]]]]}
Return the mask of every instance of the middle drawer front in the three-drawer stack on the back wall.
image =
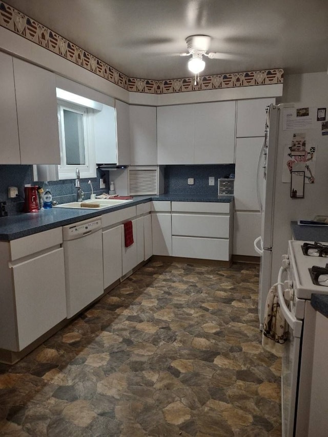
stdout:
{"type": "Polygon", "coordinates": [[[172,214],[172,235],[229,238],[229,215],[172,214]]]}

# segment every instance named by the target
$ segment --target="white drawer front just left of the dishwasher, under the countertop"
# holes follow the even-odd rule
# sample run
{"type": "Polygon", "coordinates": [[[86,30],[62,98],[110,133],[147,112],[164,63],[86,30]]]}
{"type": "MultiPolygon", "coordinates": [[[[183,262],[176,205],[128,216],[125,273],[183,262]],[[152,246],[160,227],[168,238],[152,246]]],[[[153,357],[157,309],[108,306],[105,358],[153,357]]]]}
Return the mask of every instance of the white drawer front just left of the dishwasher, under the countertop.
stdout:
{"type": "Polygon", "coordinates": [[[39,232],[10,242],[11,260],[32,255],[50,247],[63,243],[63,231],[59,228],[39,232]]]}

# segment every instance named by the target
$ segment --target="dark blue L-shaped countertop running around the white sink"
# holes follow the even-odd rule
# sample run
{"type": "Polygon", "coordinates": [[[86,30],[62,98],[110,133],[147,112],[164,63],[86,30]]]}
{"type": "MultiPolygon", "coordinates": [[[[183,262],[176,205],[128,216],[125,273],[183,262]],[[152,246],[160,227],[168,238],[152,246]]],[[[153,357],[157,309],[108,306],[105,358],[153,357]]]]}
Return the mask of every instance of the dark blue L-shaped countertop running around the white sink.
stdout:
{"type": "Polygon", "coordinates": [[[112,206],[104,209],[73,209],[73,208],[51,208],[39,212],[17,213],[0,218],[0,241],[11,241],[38,232],[47,231],[76,223],[87,218],[108,214],[118,209],[128,208],[139,203],[146,203],[151,200],[158,201],[180,201],[180,202],[232,202],[233,196],[208,196],[208,195],[183,195],[183,194],[160,194],[134,196],[133,201],[124,205],[112,206]]]}

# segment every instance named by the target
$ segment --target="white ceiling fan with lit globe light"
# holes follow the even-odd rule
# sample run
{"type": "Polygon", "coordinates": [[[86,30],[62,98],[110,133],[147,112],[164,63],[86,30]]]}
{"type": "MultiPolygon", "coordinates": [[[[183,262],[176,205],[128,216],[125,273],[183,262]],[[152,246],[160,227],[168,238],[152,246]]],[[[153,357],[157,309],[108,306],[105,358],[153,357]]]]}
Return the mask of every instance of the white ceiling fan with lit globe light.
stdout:
{"type": "MultiPolygon", "coordinates": [[[[209,52],[206,53],[210,48],[211,37],[209,35],[191,35],[187,36],[187,53],[180,53],[180,56],[192,56],[188,62],[188,69],[194,73],[198,74],[205,68],[205,62],[202,59],[203,56],[207,56],[210,59],[227,59],[229,54],[209,52]]],[[[195,77],[196,81],[196,77],[195,77]]]]}

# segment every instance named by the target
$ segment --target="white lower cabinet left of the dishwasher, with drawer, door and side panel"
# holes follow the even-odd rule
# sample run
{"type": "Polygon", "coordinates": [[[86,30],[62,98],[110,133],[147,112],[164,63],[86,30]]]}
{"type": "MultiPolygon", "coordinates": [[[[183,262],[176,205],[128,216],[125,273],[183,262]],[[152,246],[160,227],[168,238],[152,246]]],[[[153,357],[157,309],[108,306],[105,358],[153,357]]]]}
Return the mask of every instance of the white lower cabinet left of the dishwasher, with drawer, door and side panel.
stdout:
{"type": "Polygon", "coordinates": [[[19,352],[66,318],[61,227],[0,242],[0,348],[19,352]]]}

